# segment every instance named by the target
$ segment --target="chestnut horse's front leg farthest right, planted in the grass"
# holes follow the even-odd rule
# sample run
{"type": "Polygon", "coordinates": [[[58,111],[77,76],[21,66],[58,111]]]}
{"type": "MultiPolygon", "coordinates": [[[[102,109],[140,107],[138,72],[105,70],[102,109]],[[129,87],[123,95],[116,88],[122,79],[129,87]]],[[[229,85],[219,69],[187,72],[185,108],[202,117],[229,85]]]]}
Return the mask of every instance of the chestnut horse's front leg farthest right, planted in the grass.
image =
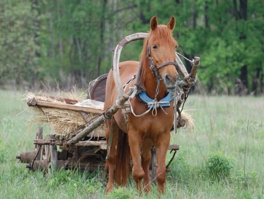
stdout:
{"type": "Polygon", "coordinates": [[[156,180],[157,180],[157,190],[163,194],[164,184],[166,180],[166,153],[169,146],[170,134],[169,132],[163,133],[158,136],[155,148],[156,148],[156,160],[157,160],[157,170],[156,170],[156,180]]]}

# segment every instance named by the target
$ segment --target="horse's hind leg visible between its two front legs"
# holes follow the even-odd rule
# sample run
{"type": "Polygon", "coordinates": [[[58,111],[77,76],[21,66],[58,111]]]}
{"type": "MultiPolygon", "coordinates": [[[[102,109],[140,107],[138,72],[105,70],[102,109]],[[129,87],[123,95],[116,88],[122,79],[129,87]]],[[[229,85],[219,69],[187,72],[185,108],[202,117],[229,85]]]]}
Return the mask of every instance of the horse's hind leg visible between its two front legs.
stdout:
{"type": "Polygon", "coordinates": [[[151,192],[150,178],[149,178],[149,163],[151,160],[150,149],[153,143],[151,140],[146,140],[143,142],[141,149],[141,164],[144,171],[144,191],[146,193],[151,192]]]}

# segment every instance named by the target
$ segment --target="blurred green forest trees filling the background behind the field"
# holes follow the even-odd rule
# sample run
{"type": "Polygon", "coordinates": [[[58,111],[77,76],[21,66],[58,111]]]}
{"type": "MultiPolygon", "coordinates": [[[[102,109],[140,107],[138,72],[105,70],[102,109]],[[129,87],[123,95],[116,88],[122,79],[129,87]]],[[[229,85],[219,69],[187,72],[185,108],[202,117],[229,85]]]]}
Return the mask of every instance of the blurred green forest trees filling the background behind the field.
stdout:
{"type": "MultiPolygon", "coordinates": [[[[261,0],[8,0],[0,7],[1,87],[56,79],[61,88],[87,88],[108,72],[122,36],[148,31],[153,15],[163,24],[174,15],[177,50],[201,57],[198,78],[206,90],[233,94],[240,78],[249,91],[263,91],[261,0]]],[[[138,60],[141,46],[129,44],[121,60],[138,60]]]]}

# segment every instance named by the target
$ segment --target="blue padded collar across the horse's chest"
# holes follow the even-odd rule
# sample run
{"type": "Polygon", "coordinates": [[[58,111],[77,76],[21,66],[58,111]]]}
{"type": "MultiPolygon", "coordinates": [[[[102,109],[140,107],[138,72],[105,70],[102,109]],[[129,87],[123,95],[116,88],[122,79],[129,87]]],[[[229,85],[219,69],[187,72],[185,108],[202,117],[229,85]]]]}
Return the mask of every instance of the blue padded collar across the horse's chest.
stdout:
{"type": "MultiPolygon", "coordinates": [[[[148,97],[145,91],[138,93],[137,98],[144,104],[147,104],[148,108],[154,107],[152,105],[154,100],[148,97]]],[[[158,104],[159,106],[162,106],[163,108],[168,108],[170,106],[169,102],[171,101],[172,101],[172,95],[171,95],[171,91],[169,91],[168,94],[164,98],[158,101],[158,104]]]]}

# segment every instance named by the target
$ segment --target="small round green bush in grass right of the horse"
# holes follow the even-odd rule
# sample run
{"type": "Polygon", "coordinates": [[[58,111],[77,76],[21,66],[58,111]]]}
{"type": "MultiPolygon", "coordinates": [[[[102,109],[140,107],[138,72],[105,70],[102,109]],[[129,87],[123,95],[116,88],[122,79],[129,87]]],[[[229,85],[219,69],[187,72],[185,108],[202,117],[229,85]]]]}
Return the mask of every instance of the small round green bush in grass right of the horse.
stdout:
{"type": "Polygon", "coordinates": [[[221,153],[210,155],[205,163],[206,171],[210,179],[214,181],[227,178],[232,167],[231,161],[221,153]]]}

